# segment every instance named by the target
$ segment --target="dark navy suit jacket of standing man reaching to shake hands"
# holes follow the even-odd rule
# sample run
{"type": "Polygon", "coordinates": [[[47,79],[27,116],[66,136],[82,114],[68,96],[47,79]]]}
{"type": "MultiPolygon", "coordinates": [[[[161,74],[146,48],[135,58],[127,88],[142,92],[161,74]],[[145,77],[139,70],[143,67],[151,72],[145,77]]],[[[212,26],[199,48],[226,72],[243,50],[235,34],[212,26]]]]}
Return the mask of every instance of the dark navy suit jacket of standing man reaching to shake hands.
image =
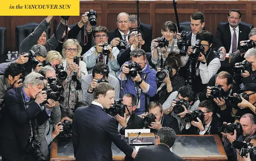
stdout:
{"type": "Polygon", "coordinates": [[[72,140],[76,161],[112,161],[112,142],[126,155],[133,148],[118,132],[114,117],[97,105],[76,109],[72,140]]]}

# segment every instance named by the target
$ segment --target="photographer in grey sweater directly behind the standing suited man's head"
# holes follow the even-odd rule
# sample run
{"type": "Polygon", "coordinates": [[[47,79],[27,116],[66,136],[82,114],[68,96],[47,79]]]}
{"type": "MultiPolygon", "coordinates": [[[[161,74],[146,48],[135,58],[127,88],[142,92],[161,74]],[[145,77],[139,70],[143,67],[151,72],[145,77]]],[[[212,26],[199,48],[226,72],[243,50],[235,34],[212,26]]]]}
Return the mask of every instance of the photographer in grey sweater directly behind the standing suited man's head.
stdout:
{"type": "Polygon", "coordinates": [[[92,74],[86,75],[82,79],[83,101],[86,101],[88,104],[92,103],[94,100],[94,89],[100,82],[108,82],[113,86],[115,90],[114,99],[119,99],[120,85],[118,79],[113,75],[109,75],[109,67],[106,64],[98,62],[93,66],[92,74]]]}

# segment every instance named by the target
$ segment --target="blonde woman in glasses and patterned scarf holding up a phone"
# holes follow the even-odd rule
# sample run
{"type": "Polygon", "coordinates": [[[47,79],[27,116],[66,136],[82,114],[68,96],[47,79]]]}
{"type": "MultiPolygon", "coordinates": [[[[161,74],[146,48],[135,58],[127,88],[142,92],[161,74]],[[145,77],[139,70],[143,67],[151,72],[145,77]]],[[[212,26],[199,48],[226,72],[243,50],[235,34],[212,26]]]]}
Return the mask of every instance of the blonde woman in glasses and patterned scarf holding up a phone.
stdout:
{"type": "Polygon", "coordinates": [[[74,110],[76,103],[79,100],[82,100],[82,90],[76,90],[76,79],[81,83],[81,79],[88,74],[85,62],[80,61],[79,66],[73,62],[74,56],[80,57],[81,52],[82,47],[76,39],[68,39],[63,43],[62,65],[64,70],[68,73],[68,76],[63,83],[64,92],[62,93],[62,96],[65,97],[65,100],[60,105],[63,108],[69,108],[71,110],[74,110]]]}

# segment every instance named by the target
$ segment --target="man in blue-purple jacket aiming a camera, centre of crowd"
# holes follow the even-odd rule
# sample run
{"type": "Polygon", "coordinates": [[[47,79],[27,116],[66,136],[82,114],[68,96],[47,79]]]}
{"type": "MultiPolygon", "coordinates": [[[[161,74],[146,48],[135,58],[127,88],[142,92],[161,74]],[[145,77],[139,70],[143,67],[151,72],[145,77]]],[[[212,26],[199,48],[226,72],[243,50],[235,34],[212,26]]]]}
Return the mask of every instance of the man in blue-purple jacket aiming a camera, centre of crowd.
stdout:
{"type": "Polygon", "coordinates": [[[118,75],[118,79],[121,83],[121,94],[120,96],[124,96],[126,93],[132,93],[137,97],[137,107],[135,110],[135,115],[141,115],[142,113],[147,112],[147,105],[149,103],[149,97],[152,97],[156,94],[156,71],[152,69],[149,65],[149,62],[146,59],[146,53],[142,49],[135,49],[131,52],[131,61],[125,62],[122,69],[120,70],[120,74],[118,75]],[[138,70],[142,70],[141,72],[137,72],[137,75],[128,75],[130,69],[128,68],[128,63],[136,63],[138,70]],[[140,73],[140,74],[139,74],[140,73]],[[132,76],[132,77],[131,77],[132,76]],[[135,77],[133,77],[135,76],[135,77]]]}

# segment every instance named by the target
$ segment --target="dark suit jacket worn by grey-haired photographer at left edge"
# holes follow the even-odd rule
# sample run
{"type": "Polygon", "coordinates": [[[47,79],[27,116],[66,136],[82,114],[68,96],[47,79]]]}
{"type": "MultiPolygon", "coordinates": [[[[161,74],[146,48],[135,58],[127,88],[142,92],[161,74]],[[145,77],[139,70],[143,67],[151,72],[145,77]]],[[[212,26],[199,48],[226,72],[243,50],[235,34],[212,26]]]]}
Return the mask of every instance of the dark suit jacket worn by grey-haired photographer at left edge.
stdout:
{"type": "Polygon", "coordinates": [[[25,148],[29,141],[29,120],[32,128],[35,128],[35,117],[39,125],[49,118],[36,102],[31,103],[25,110],[21,88],[22,86],[10,89],[4,95],[5,106],[1,110],[0,154],[12,161],[24,161],[27,154],[25,148]]]}

